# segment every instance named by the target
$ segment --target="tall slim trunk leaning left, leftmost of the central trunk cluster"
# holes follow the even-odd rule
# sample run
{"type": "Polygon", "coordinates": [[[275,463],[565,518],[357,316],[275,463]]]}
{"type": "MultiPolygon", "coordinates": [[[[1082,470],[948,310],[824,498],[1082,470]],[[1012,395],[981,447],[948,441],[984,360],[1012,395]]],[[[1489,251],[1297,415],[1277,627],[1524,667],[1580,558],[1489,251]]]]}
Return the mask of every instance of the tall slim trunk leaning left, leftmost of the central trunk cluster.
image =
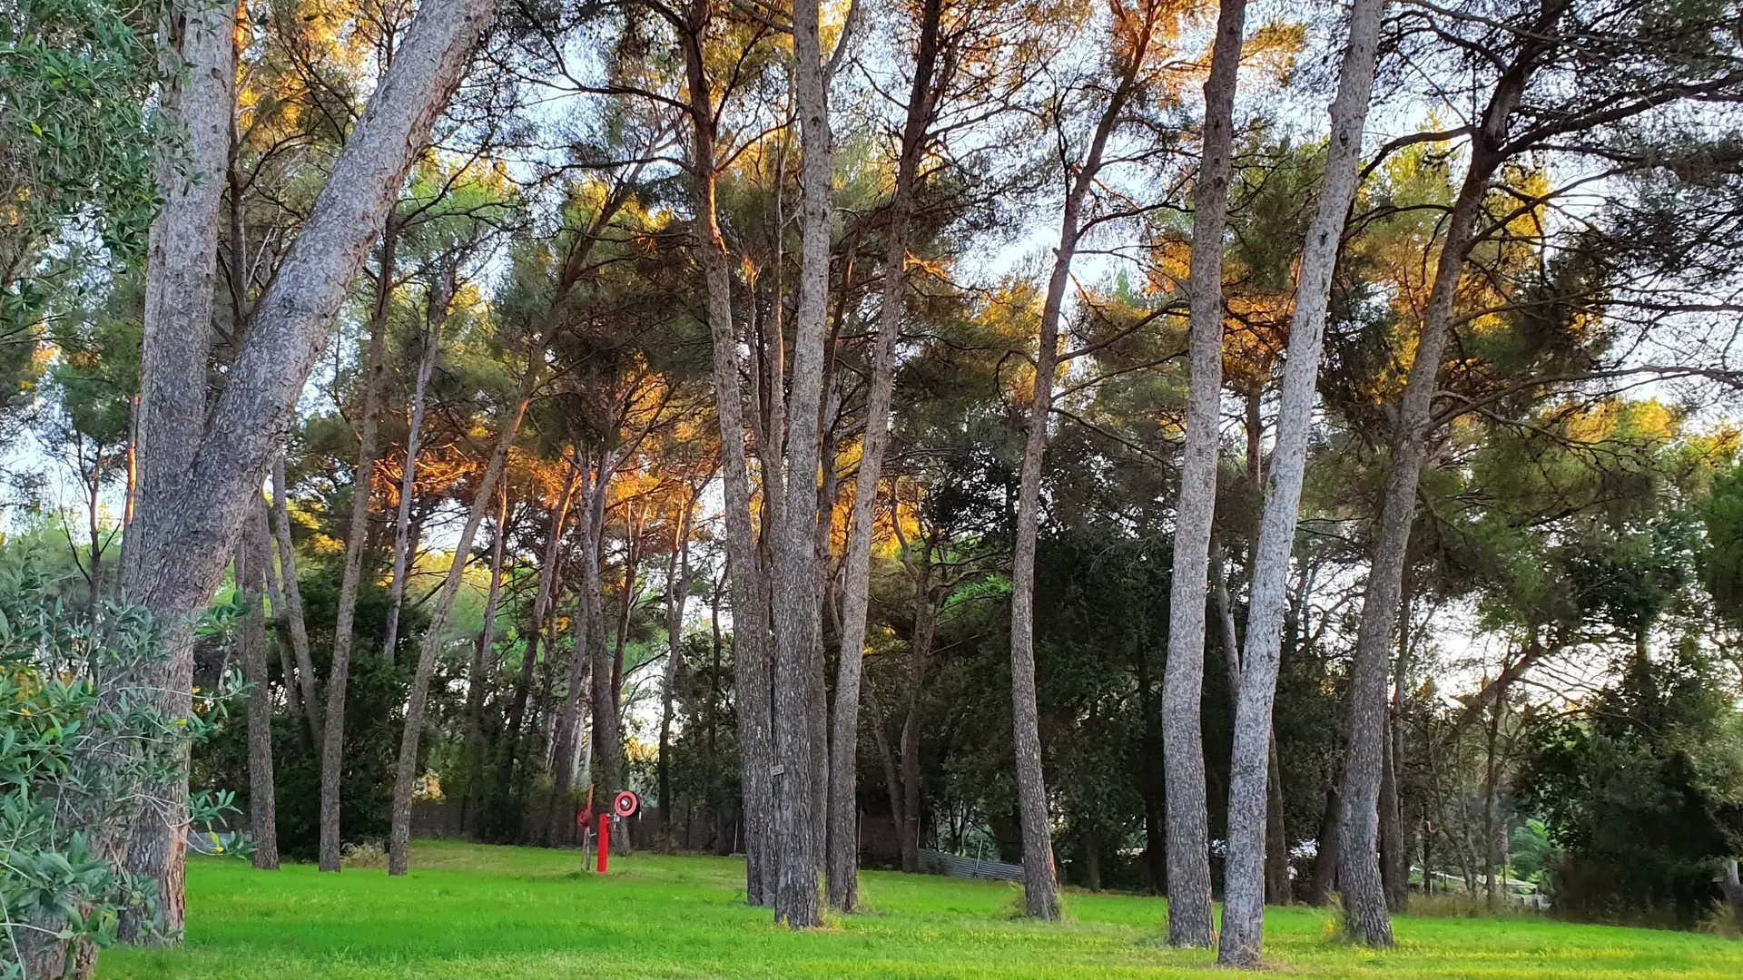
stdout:
{"type": "MultiPolygon", "coordinates": [[[[690,0],[682,31],[685,78],[690,89],[692,180],[701,227],[702,276],[708,293],[708,330],[713,338],[715,419],[720,424],[720,473],[727,520],[727,565],[732,577],[732,659],[743,752],[744,790],[744,898],[770,905],[774,821],[769,800],[774,781],[769,703],[767,598],[751,523],[749,466],[744,453],[744,408],[739,389],[737,338],[732,328],[732,270],[716,209],[716,119],[702,37],[711,0],[690,0]]],[[[594,684],[600,684],[594,678],[594,684]]],[[[598,718],[594,720],[598,725],[598,718]]],[[[596,729],[598,731],[598,729],[596,729]]]]}

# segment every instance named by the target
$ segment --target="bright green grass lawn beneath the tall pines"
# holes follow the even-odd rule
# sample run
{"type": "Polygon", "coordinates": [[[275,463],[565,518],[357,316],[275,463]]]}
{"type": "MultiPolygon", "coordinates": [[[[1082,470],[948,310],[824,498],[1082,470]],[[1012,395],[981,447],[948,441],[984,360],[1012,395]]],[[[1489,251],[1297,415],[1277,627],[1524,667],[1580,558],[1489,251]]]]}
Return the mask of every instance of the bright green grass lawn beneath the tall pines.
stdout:
{"type": "MultiPolygon", "coordinates": [[[[1014,886],[870,872],[865,914],[791,933],[744,905],[730,860],[645,854],[600,879],[572,851],[427,840],[411,858],[403,879],[195,858],[185,949],[108,950],[99,977],[1161,978],[1213,959],[1161,942],[1156,898],[1072,893],[1072,922],[1037,924],[1011,917],[1014,886]]],[[[1743,943],[1687,933],[1403,917],[1398,949],[1377,954],[1335,942],[1323,910],[1274,909],[1265,928],[1286,977],[1743,977],[1743,943]]]]}

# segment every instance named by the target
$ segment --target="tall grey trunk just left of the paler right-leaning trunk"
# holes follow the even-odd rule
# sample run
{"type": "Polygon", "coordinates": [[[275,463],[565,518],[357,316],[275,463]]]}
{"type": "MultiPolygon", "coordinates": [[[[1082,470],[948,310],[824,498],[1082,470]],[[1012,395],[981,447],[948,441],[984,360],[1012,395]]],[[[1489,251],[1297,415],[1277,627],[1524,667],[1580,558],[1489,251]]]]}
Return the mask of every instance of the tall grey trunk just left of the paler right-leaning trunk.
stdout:
{"type": "MultiPolygon", "coordinates": [[[[1217,513],[1218,405],[1222,403],[1222,237],[1229,223],[1234,89],[1241,70],[1246,0],[1222,0],[1204,138],[1192,199],[1192,267],[1187,439],[1180,460],[1175,563],[1168,598],[1168,664],[1163,671],[1163,764],[1168,772],[1168,942],[1217,942],[1210,907],[1210,809],[1204,792],[1204,588],[1210,528],[1217,513]]],[[[1260,786],[1264,790],[1264,786],[1260,786]]]]}

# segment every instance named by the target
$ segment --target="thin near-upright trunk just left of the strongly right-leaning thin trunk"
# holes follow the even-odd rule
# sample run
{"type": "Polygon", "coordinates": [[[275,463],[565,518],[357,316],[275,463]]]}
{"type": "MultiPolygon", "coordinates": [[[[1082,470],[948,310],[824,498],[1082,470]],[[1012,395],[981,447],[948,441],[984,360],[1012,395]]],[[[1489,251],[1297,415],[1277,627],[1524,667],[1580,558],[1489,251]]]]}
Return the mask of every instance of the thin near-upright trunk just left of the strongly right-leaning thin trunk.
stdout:
{"type": "Polygon", "coordinates": [[[375,485],[376,417],[382,412],[382,359],[387,347],[387,310],[394,291],[397,232],[392,218],[382,234],[382,265],[375,277],[375,314],[370,317],[370,356],[364,366],[363,425],[357,441],[357,473],[350,481],[350,532],[345,537],[345,570],[338,588],[338,619],[333,626],[333,661],[328,668],[326,738],[321,743],[321,870],[340,870],[340,776],[345,767],[345,685],[350,680],[350,638],[363,581],[363,546],[370,537],[370,497],[375,485]]]}

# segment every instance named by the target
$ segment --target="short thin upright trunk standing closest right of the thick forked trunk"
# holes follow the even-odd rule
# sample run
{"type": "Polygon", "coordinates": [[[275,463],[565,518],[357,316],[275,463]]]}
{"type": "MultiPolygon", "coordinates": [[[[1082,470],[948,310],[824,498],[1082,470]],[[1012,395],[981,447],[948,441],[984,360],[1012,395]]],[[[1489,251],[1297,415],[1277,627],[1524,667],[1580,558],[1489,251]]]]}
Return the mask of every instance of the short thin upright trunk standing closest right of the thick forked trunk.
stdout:
{"type": "Polygon", "coordinates": [[[279,821],[272,779],[272,687],[267,677],[265,584],[267,527],[256,509],[235,549],[235,588],[248,610],[237,624],[242,680],[248,692],[248,830],[254,840],[254,867],[279,868],[279,821]]]}

